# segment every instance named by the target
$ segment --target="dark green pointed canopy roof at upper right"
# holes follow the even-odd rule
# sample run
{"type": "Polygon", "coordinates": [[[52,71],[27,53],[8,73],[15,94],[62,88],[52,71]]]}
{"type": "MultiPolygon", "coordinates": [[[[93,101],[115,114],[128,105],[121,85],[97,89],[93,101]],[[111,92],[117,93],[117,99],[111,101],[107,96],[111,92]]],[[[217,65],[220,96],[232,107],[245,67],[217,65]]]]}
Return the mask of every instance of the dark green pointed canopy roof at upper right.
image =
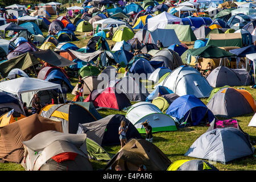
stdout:
{"type": "Polygon", "coordinates": [[[222,58],[236,56],[233,53],[225,51],[224,49],[218,48],[216,46],[210,45],[205,47],[200,47],[196,49],[188,49],[188,54],[191,56],[199,56],[203,58],[222,58]]]}

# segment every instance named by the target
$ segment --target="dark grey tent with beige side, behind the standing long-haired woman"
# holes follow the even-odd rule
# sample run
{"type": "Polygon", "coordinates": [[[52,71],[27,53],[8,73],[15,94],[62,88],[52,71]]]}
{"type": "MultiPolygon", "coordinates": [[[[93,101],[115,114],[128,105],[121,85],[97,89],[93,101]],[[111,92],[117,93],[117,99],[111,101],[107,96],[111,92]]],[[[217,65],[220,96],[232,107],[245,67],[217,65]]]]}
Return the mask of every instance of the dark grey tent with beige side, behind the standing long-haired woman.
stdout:
{"type": "Polygon", "coordinates": [[[133,124],[121,114],[112,114],[95,122],[80,124],[77,134],[86,134],[100,146],[116,145],[120,143],[118,128],[122,121],[129,127],[126,133],[127,140],[142,138],[133,124]]]}

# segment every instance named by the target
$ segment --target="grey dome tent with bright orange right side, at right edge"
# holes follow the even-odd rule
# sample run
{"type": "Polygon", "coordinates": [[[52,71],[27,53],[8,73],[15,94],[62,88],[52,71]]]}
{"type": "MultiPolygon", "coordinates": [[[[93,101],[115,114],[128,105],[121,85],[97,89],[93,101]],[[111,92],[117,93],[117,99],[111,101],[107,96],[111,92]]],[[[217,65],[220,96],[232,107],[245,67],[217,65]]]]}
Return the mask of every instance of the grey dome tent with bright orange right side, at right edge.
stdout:
{"type": "Polygon", "coordinates": [[[223,88],[208,102],[207,107],[214,115],[232,118],[256,111],[254,99],[244,89],[223,88]]]}

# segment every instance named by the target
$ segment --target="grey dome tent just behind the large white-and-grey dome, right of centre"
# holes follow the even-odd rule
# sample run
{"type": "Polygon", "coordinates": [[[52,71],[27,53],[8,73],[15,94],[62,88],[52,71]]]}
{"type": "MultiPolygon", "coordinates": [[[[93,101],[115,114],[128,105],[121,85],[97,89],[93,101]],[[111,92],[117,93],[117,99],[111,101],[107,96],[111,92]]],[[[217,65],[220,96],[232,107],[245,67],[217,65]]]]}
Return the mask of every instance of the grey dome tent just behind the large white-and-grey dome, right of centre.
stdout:
{"type": "Polygon", "coordinates": [[[154,64],[155,61],[163,62],[163,66],[174,70],[175,68],[183,65],[182,60],[176,52],[169,49],[162,49],[155,53],[151,58],[150,63],[154,64]]]}

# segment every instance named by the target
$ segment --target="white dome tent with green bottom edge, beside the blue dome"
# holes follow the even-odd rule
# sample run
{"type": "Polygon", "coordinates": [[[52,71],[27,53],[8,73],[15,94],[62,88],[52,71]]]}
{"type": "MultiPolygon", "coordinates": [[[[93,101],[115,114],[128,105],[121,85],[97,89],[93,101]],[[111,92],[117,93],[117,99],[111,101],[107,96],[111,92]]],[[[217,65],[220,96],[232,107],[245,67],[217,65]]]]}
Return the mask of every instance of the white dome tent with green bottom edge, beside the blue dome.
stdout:
{"type": "Polygon", "coordinates": [[[132,105],[126,113],[126,118],[137,128],[139,133],[146,133],[142,123],[147,120],[152,127],[152,133],[158,131],[176,131],[174,119],[163,114],[157,106],[148,102],[132,105]]]}

